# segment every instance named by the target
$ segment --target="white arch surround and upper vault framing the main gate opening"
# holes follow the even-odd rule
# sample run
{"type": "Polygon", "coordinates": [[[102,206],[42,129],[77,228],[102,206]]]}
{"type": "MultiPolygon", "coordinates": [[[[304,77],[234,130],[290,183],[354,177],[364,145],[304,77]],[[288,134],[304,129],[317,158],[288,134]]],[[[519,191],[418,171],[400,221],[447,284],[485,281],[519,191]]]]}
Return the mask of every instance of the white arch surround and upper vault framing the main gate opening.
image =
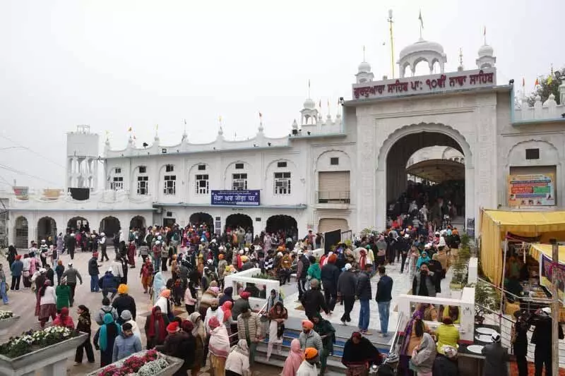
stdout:
{"type": "Polygon", "coordinates": [[[386,226],[388,196],[406,187],[405,166],[408,158],[423,147],[453,147],[465,156],[465,213],[475,217],[475,173],[471,147],[455,128],[441,123],[413,123],[397,128],[386,136],[376,160],[376,228],[386,226]],[[392,154],[391,154],[392,153],[392,154]],[[399,170],[398,168],[401,170],[399,170]],[[398,173],[398,171],[403,171],[398,173]]]}

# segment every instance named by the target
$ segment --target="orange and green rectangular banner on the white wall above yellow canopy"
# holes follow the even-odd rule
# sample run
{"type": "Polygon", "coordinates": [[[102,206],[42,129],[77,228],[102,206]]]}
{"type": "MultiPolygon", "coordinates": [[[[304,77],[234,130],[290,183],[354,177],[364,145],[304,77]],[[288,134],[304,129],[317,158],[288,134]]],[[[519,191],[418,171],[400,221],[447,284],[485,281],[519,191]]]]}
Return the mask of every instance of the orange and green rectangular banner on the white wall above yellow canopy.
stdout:
{"type": "Polygon", "coordinates": [[[508,205],[555,205],[554,174],[509,175],[508,205]]]}

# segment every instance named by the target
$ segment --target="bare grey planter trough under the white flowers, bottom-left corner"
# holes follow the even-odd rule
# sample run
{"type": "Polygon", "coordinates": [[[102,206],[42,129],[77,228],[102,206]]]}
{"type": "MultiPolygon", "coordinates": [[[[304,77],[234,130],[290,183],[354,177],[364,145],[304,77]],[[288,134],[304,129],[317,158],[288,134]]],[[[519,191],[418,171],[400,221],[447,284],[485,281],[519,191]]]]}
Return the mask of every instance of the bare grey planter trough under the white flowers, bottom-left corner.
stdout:
{"type": "Polygon", "coordinates": [[[0,355],[0,375],[35,375],[36,370],[42,370],[42,376],[66,375],[66,359],[73,356],[77,346],[80,346],[87,338],[88,334],[81,333],[66,341],[40,348],[18,356],[18,358],[7,358],[0,355]]]}

